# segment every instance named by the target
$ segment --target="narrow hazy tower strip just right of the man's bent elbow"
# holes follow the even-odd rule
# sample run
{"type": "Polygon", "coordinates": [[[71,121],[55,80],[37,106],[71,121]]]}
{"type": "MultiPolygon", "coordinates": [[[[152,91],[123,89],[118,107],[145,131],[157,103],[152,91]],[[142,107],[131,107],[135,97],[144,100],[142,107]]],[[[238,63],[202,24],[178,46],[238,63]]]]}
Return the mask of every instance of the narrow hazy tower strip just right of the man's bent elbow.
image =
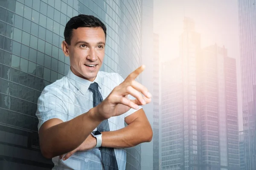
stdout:
{"type": "Polygon", "coordinates": [[[153,42],[153,170],[159,170],[159,99],[160,99],[160,61],[159,35],[154,34],[153,42]]]}

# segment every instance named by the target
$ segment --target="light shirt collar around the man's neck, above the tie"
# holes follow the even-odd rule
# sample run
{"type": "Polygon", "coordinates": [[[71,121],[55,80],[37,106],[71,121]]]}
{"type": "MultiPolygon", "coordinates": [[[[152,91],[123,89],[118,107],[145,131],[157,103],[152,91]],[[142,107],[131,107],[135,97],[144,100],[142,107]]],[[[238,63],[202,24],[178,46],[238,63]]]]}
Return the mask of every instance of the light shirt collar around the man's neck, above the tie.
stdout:
{"type": "Polygon", "coordinates": [[[97,82],[98,85],[99,85],[99,90],[102,88],[102,77],[100,75],[100,71],[98,72],[95,80],[93,82],[87,80],[87,79],[84,79],[84,78],[81,78],[81,77],[78,77],[76,76],[72,71],[71,71],[71,68],[69,69],[68,73],[67,73],[67,77],[70,81],[71,84],[73,84],[79,91],[81,91],[81,93],[84,95],[86,94],[89,86],[91,83],[93,82],[97,82]]]}

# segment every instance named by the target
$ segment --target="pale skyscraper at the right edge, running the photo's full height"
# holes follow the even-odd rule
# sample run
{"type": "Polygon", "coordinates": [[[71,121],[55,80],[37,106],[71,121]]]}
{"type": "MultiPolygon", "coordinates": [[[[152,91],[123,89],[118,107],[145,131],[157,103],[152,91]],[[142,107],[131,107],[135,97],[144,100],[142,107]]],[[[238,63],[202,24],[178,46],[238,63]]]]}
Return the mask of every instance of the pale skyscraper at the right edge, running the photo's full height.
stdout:
{"type": "Polygon", "coordinates": [[[256,169],[256,4],[238,0],[242,111],[246,170],[256,169]]]}

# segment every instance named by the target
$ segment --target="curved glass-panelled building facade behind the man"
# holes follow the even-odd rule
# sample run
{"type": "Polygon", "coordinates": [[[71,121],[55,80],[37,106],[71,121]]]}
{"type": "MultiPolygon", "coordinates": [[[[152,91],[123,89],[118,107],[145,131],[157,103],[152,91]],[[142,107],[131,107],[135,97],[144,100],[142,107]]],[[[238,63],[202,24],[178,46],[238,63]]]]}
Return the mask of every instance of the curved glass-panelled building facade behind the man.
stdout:
{"type": "MultiPolygon", "coordinates": [[[[142,0],[0,1],[0,167],[51,169],[38,142],[37,100],[70,68],[61,42],[67,21],[98,17],[107,27],[101,71],[123,78],[141,65],[142,0]]],[[[138,77],[141,82],[141,77],[138,77]]],[[[140,145],[127,148],[127,170],[140,170],[140,145]]]]}

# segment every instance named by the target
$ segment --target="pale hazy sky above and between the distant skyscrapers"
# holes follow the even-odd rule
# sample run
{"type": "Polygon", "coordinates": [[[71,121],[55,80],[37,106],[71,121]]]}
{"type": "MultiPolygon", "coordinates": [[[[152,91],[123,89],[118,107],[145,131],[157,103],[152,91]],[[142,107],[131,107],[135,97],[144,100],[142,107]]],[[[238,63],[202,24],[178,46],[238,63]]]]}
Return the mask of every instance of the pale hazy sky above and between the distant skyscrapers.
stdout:
{"type": "Polygon", "coordinates": [[[159,34],[162,62],[179,56],[184,16],[194,20],[201,48],[224,45],[228,57],[236,59],[239,131],[243,130],[237,0],[154,0],[154,33],[159,34]]]}

